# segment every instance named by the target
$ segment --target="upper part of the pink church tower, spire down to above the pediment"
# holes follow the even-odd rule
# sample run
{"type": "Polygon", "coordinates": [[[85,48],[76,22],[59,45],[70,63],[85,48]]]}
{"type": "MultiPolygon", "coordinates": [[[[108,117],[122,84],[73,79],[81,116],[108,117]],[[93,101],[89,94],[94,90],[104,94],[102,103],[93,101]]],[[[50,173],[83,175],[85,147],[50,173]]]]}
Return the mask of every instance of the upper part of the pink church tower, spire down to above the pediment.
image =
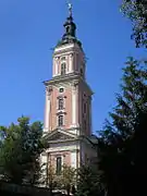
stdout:
{"type": "Polygon", "coordinates": [[[45,82],[45,133],[57,128],[76,135],[91,135],[91,95],[86,82],[86,60],[76,37],[72,5],[64,23],[64,34],[54,48],[52,78],[45,82]]]}

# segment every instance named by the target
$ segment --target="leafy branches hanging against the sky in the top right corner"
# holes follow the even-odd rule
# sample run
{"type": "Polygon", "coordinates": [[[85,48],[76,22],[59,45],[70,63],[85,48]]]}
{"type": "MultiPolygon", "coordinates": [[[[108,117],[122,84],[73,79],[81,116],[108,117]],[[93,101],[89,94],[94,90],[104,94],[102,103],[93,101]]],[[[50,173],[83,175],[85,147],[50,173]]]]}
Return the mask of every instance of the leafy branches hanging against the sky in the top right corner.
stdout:
{"type": "Polygon", "coordinates": [[[136,47],[147,48],[147,1],[146,0],[122,0],[121,11],[128,17],[133,25],[132,38],[136,47]]]}

